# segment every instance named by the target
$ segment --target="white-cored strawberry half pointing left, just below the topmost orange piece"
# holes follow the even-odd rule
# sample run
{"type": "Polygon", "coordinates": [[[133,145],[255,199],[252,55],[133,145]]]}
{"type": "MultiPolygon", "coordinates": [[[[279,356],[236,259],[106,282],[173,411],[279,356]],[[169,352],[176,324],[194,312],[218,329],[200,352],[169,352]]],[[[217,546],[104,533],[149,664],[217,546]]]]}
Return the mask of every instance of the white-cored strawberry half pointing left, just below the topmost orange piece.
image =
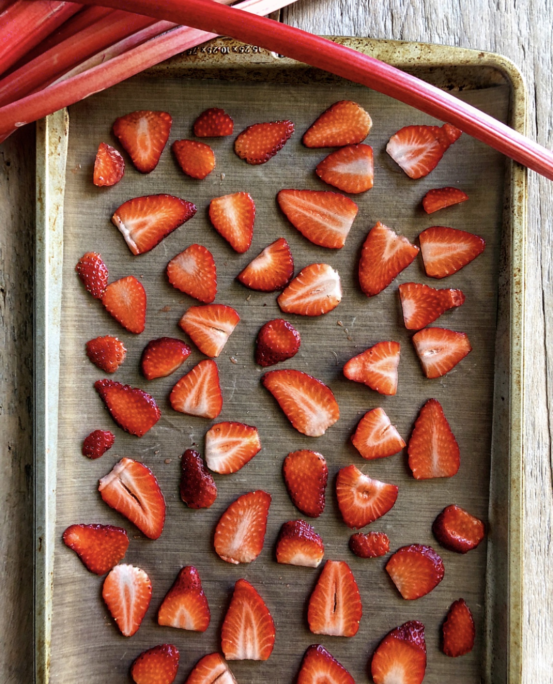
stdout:
{"type": "Polygon", "coordinates": [[[374,159],[369,145],[348,145],[331,152],[317,164],[316,174],[343,192],[370,190],[374,181],[374,159]]]}

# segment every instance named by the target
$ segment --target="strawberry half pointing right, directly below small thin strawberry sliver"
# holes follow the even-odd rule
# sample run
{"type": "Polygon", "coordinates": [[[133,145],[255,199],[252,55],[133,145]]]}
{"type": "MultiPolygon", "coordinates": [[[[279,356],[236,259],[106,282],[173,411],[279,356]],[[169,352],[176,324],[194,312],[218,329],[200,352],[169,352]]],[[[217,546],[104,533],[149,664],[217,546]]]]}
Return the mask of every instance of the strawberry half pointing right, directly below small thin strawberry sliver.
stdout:
{"type": "Polygon", "coordinates": [[[431,226],[419,235],[424,270],[430,278],[445,278],[482,254],[485,240],[474,233],[431,226]]]}

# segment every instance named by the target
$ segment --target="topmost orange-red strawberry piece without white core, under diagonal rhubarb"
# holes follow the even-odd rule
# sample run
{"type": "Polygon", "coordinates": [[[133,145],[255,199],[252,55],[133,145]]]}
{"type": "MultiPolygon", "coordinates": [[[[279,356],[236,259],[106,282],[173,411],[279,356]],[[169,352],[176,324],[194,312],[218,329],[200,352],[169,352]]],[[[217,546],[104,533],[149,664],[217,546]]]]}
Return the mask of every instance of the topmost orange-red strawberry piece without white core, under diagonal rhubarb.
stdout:
{"type": "Polygon", "coordinates": [[[306,147],[343,147],[365,140],[372,127],[368,113],[355,102],[341,100],[323,111],[303,134],[306,147]]]}

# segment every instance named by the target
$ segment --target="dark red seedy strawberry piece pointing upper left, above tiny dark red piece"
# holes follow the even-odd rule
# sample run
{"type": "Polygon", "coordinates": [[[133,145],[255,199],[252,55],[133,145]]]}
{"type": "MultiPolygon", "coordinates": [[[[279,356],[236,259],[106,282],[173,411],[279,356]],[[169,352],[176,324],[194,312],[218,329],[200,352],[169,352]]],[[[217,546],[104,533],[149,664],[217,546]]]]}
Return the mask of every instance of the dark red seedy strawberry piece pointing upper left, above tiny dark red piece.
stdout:
{"type": "Polygon", "coordinates": [[[119,427],[137,437],[153,428],[162,415],[155,399],[138,387],[115,380],[97,380],[94,389],[119,427]]]}

